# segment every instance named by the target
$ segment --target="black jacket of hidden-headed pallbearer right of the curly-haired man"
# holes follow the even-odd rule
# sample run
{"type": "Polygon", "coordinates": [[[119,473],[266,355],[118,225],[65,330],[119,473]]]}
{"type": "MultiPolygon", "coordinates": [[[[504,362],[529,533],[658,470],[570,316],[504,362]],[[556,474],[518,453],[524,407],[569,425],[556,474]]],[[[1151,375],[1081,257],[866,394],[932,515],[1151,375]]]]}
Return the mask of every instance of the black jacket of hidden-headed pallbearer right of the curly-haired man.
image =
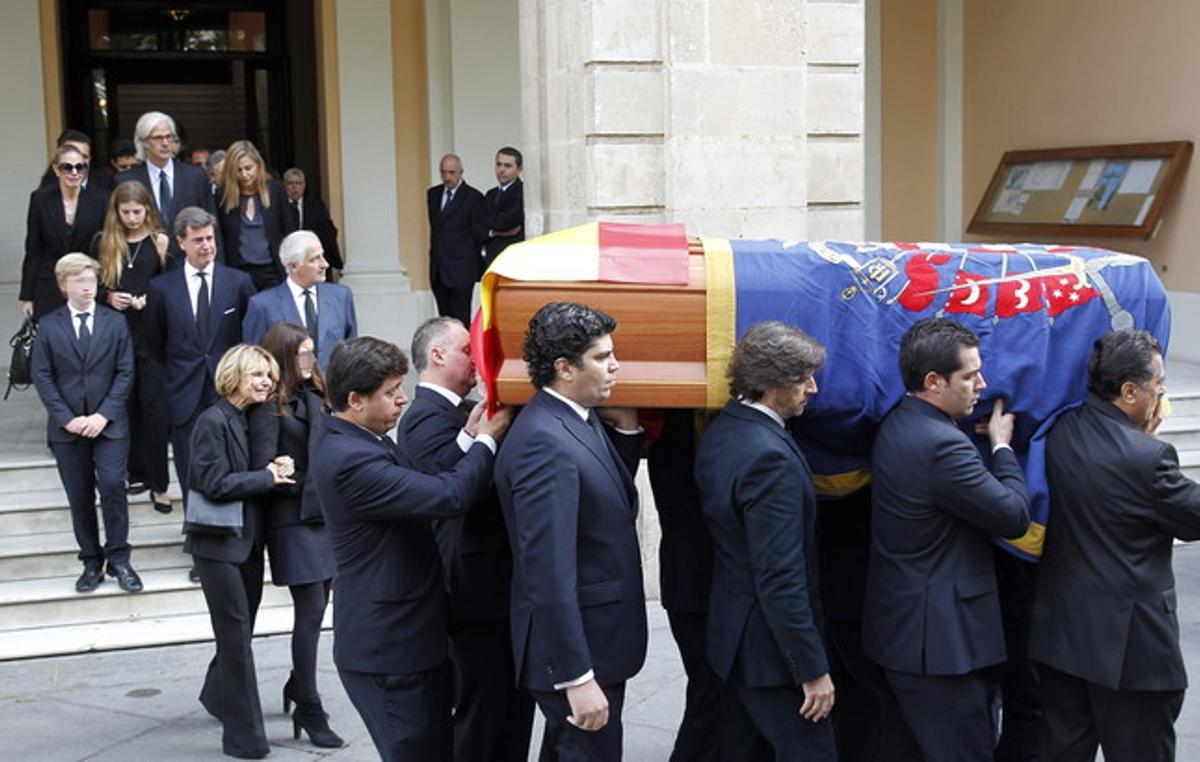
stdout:
{"type": "Polygon", "coordinates": [[[713,540],[692,479],[694,410],[662,410],[662,432],[647,448],[646,466],[659,511],[659,586],[667,611],[707,613],[713,588],[713,540]]]}

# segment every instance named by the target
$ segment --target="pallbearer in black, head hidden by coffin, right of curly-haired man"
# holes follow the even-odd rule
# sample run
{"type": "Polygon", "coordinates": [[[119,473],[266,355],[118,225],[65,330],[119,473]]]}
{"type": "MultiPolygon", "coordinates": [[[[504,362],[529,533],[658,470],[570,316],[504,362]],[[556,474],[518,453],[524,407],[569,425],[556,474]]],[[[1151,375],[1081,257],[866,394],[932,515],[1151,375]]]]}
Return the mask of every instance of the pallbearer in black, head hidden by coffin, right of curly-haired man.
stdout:
{"type": "MultiPolygon", "coordinates": [[[[708,598],[713,540],[692,479],[698,410],[662,410],[662,427],[646,448],[646,466],[659,514],[659,587],[671,636],[688,674],[683,718],[672,762],[721,758],[721,679],[708,664],[708,598]]],[[[648,428],[653,427],[647,426],[648,428]]],[[[649,434],[647,436],[649,438],[649,434]]]]}

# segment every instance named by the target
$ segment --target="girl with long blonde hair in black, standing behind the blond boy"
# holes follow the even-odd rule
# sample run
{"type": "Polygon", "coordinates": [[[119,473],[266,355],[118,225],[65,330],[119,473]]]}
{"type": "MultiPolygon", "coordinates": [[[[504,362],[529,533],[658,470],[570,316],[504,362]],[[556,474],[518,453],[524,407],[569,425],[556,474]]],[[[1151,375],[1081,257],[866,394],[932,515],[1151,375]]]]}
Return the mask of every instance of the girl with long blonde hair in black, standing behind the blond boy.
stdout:
{"type": "Polygon", "coordinates": [[[160,514],[170,512],[167,486],[167,390],[162,366],[150,355],[142,311],[150,278],[167,268],[167,234],[146,186],[122,182],[108,199],[104,227],[92,239],[91,256],[100,260],[97,299],[125,313],[133,337],[133,389],[130,390],[130,486],[149,486],[160,514]]]}

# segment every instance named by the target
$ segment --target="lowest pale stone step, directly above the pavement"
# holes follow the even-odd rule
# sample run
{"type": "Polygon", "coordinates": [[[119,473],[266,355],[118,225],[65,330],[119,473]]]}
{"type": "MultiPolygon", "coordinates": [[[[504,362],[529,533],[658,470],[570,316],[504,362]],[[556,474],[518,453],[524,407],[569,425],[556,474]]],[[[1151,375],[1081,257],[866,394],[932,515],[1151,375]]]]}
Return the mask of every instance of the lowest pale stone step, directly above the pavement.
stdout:
{"type": "MultiPolygon", "coordinates": [[[[286,594],[286,592],[284,592],[286,594]]],[[[143,594],[139,594],[143,595],[143,594]]],[[[325,610],[325,629],[332,626],[332,607],[325,610]]],[[[262,606],[254,635],[292,631],[292,605],[262,606]]],[[[0,631],[0,660],[82,654],[118,648],[142,648],[212,640],[208,610],[173,617],[136,617],[60,626],[0,631]]]]}

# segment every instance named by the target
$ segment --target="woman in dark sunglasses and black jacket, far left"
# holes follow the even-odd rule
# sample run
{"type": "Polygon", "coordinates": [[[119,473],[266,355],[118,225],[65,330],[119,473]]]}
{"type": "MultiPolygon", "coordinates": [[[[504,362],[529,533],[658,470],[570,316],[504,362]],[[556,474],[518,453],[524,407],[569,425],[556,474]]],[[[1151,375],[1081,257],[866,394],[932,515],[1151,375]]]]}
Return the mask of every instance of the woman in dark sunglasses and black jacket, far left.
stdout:
{"type": "Polygon", "coordinates": [[[108,193],[96,184],[84,188],[88,160],[71,144],[54,154],[59,181],[34,191],[25,217],[25,259],[20,265],[20,311],[37,319],[66,304],[54,265],[71,252],[88,251],[104,223],[108,193]]]}

